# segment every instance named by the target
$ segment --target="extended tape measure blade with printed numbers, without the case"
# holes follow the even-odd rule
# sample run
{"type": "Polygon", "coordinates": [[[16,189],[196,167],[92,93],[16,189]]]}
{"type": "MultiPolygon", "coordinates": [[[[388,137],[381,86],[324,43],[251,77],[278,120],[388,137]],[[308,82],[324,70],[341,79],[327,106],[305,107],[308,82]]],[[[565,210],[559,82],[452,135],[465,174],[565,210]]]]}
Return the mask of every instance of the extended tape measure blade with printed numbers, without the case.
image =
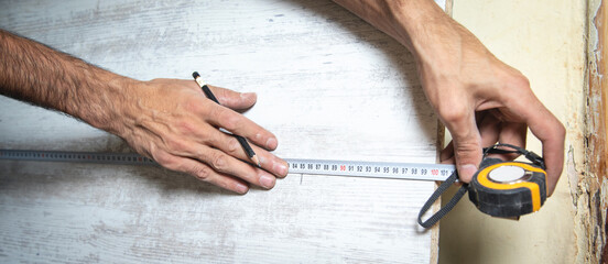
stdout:
{"type": "MultiPolygon", "coordinates": [[[[123,165],[159,165],[134,153],[98,153],[63,151],[0,150],[0,160],[74,162],[123,165]]],[[[423,163],[386,163],[285,158],[290,174],[314,174],[349,177],[395,178],[415,180],[445,180],[454,165],[423,163]]]]}

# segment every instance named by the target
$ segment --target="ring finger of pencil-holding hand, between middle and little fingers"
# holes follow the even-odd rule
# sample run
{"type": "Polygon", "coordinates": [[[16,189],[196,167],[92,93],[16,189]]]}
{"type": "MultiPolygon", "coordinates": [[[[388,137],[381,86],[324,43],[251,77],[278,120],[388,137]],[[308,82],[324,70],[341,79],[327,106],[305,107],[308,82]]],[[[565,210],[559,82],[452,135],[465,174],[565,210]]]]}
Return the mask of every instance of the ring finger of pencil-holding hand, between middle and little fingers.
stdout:
{"type": "Polygon", "coordinates": [[[274,187],[276,177],[263,169],[243,163],[242,161],[239,161],[217,148],[198,145],[197,150],[196,160],[206,163],[209,167],[220,174],[243,179],[265,189],[274,187]]]}

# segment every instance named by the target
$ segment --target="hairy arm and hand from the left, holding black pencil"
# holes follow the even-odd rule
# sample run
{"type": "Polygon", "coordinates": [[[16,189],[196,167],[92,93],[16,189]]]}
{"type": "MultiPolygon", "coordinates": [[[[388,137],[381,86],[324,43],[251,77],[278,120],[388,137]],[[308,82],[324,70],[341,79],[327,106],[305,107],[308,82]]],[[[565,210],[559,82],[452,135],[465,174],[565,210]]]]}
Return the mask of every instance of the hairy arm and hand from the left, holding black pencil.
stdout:
{"type": "Polygon", "coordinates": [[[245,194],[249,184],[272,188],[287,174],[269,151],[276,138],[234,110],[256,102],[254,94],[211,87],[221,106],[194,80],[134,80],[90,65],[41,43],[0,30],[0,94],[78,118],[124,139],[159,164],[245,194]],[[247,138],[261,168],[238,141],[247,138]]]}

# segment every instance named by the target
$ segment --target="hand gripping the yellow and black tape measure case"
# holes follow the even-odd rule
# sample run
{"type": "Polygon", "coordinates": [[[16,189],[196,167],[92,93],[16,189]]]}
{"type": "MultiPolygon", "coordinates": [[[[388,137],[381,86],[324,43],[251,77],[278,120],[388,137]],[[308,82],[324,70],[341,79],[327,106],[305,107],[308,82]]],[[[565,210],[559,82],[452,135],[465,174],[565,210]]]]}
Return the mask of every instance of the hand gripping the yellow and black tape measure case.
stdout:
{"type": "Polygon", "coordinates": [[[447,16],[425,30],[434,41],[415,50],[421,80],[453,136],[442,162],[455,162],[460,180],[468,183],[481,162],[482,147],[500,142],[524,148],[530,128],[543,143],[551,195],[564,163],[562,123],[534,96],[528,79],[497,59],[468,30],[447,16]]]}

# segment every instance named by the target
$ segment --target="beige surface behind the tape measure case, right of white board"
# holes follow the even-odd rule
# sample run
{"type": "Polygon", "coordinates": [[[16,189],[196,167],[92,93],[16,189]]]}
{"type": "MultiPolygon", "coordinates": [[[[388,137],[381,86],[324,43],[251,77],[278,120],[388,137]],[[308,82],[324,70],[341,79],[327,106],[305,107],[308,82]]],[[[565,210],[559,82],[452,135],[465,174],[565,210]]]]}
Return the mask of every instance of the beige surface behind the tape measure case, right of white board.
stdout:
{"type": "MultiPolygon", "coordinates": [[[[493,219],[470,202],[459,202],[442,221],[439,262],[586,262],[582,250],[587,239],[582,237],[577,204],[571,196],[584,158],[586,2],[454,0],[453,16],[530,79],[539,99],[566,127],[567,162],[541,211],[519,221],[493,219]]],[[[528,146],[541,151],[532,134],[528,146]]]]}

